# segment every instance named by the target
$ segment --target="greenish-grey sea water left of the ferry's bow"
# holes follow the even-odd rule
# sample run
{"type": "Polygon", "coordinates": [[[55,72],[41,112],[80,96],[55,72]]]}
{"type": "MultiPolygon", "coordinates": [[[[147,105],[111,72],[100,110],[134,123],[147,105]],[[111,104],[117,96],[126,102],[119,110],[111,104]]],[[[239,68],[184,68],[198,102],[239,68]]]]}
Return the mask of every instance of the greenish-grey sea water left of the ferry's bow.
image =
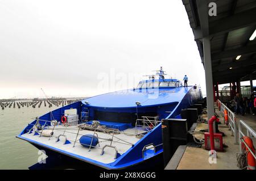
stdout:
{"type": "Polygon", "coordinates": [[[56,108],[58,107],[55,105],[48,108],[48,104],[44,107],[43,103],[40,108],[38,105],[35,108],[12,106],[0,110],[0,169],[28,169],[38,162],[42,152],[15,136],[22,132],[28,123],[35,120],[35,117],[56,108]]]}

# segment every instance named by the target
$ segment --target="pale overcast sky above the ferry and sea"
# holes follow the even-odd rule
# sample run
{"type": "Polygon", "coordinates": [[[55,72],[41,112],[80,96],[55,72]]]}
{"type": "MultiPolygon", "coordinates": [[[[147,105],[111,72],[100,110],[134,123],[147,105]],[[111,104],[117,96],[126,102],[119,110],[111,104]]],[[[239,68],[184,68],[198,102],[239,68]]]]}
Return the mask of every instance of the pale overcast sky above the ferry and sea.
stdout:
{"type": "Polygon", "coordinates": [[[172,78],[187,74],[205,92],[182,1],[0,0],[0,26],[0,98],[43,97],[41,87],[48,96],[133,88],[137,82],[122,85],[118,75],[160,66],[172,78]],[[101,89],[106,77],[114,87],[101,89]]]}

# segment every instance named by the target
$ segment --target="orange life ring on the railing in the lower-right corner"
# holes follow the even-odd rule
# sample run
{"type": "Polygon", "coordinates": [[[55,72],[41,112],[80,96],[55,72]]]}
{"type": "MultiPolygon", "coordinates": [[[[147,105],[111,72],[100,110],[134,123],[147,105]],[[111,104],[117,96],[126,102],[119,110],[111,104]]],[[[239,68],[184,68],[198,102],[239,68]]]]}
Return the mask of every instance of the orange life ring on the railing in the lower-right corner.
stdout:
{"type": "MultiPolygon", "coordinates": [[[[255,149],[254,149],[254,146],[253,146],[253,140],[251,140],[251,138],[248,137],[248,136],[244,136],[243,141],[246,142],[247,146],[249,146],[251,151],[253,151],[253,153],[255,154],[255,149]]],[[[253,154],[251,154],[251,152],[245,146],[245,144],[243,144],[243,142],[242,142],[241,146],[242,146],[242,150],[245,150],[247,152],[247,170],[255,170],[256,162],[255,162],[255,158],[253,157],[253,154]]]]}

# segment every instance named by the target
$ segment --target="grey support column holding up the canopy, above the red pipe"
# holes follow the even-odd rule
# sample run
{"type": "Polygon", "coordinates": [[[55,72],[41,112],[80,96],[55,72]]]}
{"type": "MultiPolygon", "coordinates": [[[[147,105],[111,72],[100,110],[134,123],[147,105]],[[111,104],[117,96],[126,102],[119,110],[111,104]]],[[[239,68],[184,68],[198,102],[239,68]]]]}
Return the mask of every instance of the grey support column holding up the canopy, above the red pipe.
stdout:
{"type": "MultiPolygon", "coordinates": [[[[214,100],[213,100],[213,79],[212,79],[212,58],[210,55],[210,39],[203,38],[204,47],[204,69],[205,69],[205,83],[207,90],[207,112],[208,120],[214,116],[214,100]]],[[[215,122],[213,123],[213,132],[216,132],[215,122]]]]}

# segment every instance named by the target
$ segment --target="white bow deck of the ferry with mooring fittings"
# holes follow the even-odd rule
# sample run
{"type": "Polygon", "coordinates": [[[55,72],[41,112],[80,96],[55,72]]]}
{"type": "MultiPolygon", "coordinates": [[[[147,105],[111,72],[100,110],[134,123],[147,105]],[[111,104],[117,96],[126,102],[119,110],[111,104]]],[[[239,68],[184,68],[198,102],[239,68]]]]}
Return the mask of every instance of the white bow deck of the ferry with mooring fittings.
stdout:
{"type": "MultiPolygon", "coordinates": [[[[53,129],[53,126],[49,127],[49,129],[53,129]]],[[[69,126],[67,128],[64,127],[64,125],[56,125],[53,130],[53,135],[51,137],[40,136],[40,133],[39,135],[34,135],[34,132],[30,134],[28,133],[22,134],[22,137],[32,141],[36,141],[40,145],[43,144],[44,146],[53,148],[55,150],[59,149],[64,153],[75,154],[76,156],[89,158],[94,161],[98,161],[105,164],[112,163],[115,161],[114,148],[106,147],[104,149],[104,154],[101,155],[102,148],[105,145],[115,146],[117,148],[118,153],[123,154],[127,150],[129,150],[133,144],[135,144],[137,141],[140,140],[137,136],[131,135],[135,133],[135,128],[128,128],[122,132],[115,133],[115,134],[96,131],[95,133],[97,133],[98,135],[99,144],[96,145],[95,148],[92,147],[89,150],[89,148],[85,148],[80,144],[79,139],[84,134],[93,135],[94,131],[88,130],[88,129],[84,129],[84,130],[80,129],[79,134],[77,134],[78,130],[79,128],[77,127],[77,125],[69,126]],[[60,134],[63,134],[63,133],[65,136],[67,136],[67,140],[71,142],[70,144],[64,144],[65,142],[64,136],[60,136],[60,141],[56,142],[56,137],[58,137],[60,134]],[[110,141],[112,139],[113,141],[110,141]],[[74,147],[74,143],[75,143],[75,147],[74,147]]],[[[143,130],[139,130],[139,129],[137,130],[138,130],[138,134],[145,132],[143,130]]]]}

